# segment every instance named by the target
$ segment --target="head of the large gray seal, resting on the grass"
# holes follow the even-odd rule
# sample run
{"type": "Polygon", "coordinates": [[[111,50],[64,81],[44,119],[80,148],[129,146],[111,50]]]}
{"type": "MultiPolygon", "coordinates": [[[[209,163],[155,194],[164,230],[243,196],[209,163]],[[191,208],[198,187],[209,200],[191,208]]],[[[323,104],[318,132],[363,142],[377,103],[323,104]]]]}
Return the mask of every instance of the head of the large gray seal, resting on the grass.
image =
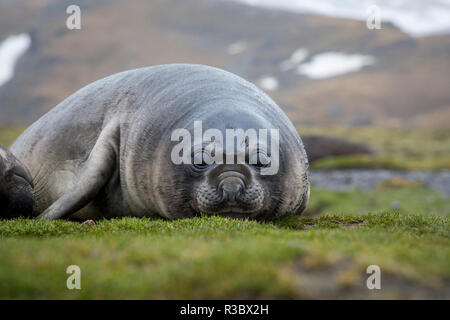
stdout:
{"type": "Polygon", "coordinates": [[[309,192],[301,143],[254,113],[227,111],[214,119],[204,121],[206,139],[202,148],[194,145],[192,164],[185,170],[197,177],[193,209],[265,220],[300,214],[309,192]],[[209,129],[218,129],[217,136],[210,139],[209,129]]]}

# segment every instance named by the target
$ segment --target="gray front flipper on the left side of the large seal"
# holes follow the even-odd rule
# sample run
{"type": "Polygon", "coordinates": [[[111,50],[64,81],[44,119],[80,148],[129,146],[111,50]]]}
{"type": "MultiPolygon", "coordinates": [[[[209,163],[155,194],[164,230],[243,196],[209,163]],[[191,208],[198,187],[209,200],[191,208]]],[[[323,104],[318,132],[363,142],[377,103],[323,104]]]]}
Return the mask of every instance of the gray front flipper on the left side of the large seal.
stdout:
{"type": "Polygon", "coordinates": [[[118,125],[111,124],[103,129],[80,170],[74,188],[56,200],[38,219],[67,218],[95,199],[116,168],[118,128],[118,125]]]}

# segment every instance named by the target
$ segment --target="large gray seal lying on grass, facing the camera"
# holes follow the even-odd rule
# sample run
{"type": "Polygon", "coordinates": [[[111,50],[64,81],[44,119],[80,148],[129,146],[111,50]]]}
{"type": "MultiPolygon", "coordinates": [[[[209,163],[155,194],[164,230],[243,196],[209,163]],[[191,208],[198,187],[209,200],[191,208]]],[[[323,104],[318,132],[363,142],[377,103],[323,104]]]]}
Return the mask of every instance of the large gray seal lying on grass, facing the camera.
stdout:
{"type": "Polygon", "coordinates": [[[275,219],[309,198],[302,141],[277,104],[221,69],[159,65],[98,80],[31,125],[11,146],[31,171],[44,219],[199,214],[275,219]],[[174,129],[276,128],[275,175],[258,165],[176,165],[174,129]]]}

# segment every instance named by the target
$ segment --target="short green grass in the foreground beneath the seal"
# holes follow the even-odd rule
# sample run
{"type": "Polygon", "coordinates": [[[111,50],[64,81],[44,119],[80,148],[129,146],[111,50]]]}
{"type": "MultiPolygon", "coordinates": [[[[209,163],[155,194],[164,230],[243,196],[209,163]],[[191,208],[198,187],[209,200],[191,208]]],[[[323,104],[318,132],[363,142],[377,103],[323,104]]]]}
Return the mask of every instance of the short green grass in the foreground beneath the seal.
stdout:
{"type": "MultiPolygon", "coordinates": [[[[0,129],[0,143],[20,132],[11,130],[3,129],[7,137],[0,129]]],[[[416,163],[429,161],[405,142],[413,138],[397,135],[395,152],[412,150],[416,163]]],[[[380,139],[364,138],[373,147],[380,139]]],[[[425,148],[441,150],[433,141],[425,148]]],[[[370,192],[313,188],[305,217],[265,223],[3,220],[0,299],[450,299],[449,213],[448,197],[421,184],[388,182],[370,192]],[[81,268],[81,290],[66,287],[69,265],[81,268]],[[366,286],[370,265],[380,267],[380,290],[366,286]]]]}

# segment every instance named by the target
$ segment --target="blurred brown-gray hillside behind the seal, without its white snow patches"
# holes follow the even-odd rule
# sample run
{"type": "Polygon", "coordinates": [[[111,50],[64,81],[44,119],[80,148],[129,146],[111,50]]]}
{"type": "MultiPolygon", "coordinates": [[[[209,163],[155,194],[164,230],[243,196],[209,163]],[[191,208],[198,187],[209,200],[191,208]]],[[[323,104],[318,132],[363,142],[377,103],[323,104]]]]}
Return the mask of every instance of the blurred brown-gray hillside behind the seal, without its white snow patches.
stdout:
{"type": "Polygon", "coordinates": [[[369,30],[362,21],[222,0],[0,0],[0,41],[24,32],[31,48],[0,87],[0,125],[27,125],[107,75],[188,62],[271,89],[296,125],[448,127],[449,35],[413,38],[388,23],[369,30]],[[70,4],[81,7],[81,30],[66,28],[70,4]],[[321,80],[289,65],[330,51],[374,63],[321,80]]]}

